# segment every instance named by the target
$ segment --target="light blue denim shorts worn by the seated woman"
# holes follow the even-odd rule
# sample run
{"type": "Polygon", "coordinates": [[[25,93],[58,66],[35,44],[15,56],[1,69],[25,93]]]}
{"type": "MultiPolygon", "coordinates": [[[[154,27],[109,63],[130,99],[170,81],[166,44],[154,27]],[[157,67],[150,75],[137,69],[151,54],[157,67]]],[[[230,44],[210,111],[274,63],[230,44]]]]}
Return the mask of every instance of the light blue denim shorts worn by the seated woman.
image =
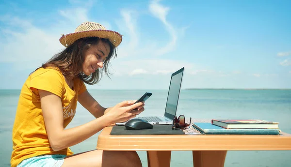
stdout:
{"type": "Polygon", "coordinates": [[[61,167],[66,155],[38,155],[23,160],[17,167],[61,167]]]}

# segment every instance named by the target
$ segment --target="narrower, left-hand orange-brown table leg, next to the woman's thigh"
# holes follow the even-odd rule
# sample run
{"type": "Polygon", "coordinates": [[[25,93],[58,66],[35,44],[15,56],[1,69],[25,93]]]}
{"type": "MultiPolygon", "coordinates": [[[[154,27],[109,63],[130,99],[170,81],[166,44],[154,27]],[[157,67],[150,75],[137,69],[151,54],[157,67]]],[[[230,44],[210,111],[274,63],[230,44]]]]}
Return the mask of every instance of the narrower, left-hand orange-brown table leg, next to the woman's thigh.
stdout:
{"type": "Polygon", "coordinates": [[[170,167],[171,151],[146,151],[147,167],[170,167]]]}

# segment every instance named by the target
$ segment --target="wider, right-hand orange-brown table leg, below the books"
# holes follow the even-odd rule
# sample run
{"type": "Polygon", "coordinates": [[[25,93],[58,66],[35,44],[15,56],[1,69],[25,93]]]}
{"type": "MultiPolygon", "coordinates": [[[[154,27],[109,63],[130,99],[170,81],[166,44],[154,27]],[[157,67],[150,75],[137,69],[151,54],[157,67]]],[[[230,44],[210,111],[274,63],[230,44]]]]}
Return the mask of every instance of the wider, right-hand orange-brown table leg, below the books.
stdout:
{"type": "Polygon", "coordinates": [[[224,167],[227,151],[193,151],[194,167],[224,167]]]}

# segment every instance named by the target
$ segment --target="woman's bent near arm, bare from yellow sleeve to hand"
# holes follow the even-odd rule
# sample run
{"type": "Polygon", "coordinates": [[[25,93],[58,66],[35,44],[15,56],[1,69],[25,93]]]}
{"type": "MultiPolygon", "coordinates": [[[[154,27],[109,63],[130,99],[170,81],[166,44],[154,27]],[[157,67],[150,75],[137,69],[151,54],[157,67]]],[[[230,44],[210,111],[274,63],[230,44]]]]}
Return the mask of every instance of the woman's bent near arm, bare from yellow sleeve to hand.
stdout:
{"type": "Polygon", "coordinates": [[[43,90],[39,90],[39,95],[49,143],[54,151],[59,151],[76,145],[93,136],[105,126],[113,124],[116,121],[127,121],[144,110],[143,108],[139,112],[129,112],[136,107],[143,106],[144,104],[137,103],[131,105],[134,102],[124,101],[114,106],[108,114],[102,117],[74,128],[64,129],[64,115],[61,98],[49,91],[43,90]]]}

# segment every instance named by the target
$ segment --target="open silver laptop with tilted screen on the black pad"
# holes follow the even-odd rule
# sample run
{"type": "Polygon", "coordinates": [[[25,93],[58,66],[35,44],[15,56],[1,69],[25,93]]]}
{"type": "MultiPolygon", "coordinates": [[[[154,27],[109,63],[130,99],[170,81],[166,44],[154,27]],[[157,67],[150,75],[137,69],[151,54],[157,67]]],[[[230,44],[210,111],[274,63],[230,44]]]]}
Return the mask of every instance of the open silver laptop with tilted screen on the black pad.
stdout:
{"type": "MultiPolygon", "coordinates": [[[[183,78],[184,67],[176,71],[171,76],[168,97],[166,102],[166,108],[164,111],[164,116],[146,116],[146,117],[136,117],[148,121],[154,125],[160,124],[172,124],[174,116],[177,112],[178,99],[181,90],[182,78],[183,78]]],[[[124,125],[126,122],[116,123],[116,125],[124,125]]]]}

